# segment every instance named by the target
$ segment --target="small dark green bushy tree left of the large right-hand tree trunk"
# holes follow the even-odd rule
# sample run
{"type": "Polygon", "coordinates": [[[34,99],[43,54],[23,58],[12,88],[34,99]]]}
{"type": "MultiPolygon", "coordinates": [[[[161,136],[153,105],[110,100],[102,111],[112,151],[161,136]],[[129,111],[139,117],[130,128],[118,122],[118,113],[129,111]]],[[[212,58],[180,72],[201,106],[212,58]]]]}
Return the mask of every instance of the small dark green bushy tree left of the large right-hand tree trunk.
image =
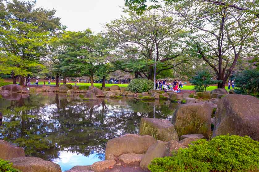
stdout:
{"type": "Polygon", "coordinates": [[[195,91],[206,91],[206,88],[209,87],[209,85],[222,82],[219,80],[213,80],[212,77],[213,75],[207,70],[197,71],[190,83],[194,85],[195,91]]]}

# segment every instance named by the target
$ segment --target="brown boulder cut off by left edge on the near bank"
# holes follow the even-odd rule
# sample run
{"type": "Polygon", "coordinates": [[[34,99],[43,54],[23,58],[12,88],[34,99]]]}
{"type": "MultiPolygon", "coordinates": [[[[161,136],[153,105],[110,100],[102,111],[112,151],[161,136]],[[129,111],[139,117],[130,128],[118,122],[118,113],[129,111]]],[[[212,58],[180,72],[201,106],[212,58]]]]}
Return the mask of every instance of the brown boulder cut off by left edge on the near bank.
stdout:
{"type": "Polygon", "coordinates": [[[0,140],[0,158],[8,160],[10,158],[25,157],[23,148],[14,146],[9,142],[0,140]]]}

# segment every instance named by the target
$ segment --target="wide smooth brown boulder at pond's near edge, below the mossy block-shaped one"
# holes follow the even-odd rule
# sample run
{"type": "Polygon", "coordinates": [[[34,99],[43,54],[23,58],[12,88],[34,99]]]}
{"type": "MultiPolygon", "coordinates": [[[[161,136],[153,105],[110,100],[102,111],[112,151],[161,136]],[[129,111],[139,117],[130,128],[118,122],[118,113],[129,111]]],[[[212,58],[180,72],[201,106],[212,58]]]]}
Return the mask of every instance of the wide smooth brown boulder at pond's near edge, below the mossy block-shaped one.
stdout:
{"type": "Polygon", "coordinates": [[[122,154],[144,154],[149,146],[156,142],[151,136],[138,134],[126,134],[121,137],[110,139],[106,144],[105,159],[109,154],[118,157],[122,154]]]}

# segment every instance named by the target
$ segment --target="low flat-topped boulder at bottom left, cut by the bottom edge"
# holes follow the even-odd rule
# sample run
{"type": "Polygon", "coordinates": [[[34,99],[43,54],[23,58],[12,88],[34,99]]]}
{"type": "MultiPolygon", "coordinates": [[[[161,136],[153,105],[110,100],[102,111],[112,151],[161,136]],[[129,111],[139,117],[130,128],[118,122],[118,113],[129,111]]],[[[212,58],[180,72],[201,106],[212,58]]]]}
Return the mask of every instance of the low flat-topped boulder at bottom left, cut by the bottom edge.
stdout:
{"type": "Polygon", "coordinates": [[[9,159],[13,167],[22,172],[61,172],[58,164],[36,157],[19,157],[9,159]]]}

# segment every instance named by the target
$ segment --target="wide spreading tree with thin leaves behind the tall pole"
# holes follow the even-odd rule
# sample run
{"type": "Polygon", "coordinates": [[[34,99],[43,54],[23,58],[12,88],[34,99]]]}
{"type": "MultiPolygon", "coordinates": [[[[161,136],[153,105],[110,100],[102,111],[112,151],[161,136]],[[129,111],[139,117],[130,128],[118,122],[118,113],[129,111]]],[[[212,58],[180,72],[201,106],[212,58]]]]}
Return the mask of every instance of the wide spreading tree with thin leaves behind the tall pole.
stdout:
{"type": "Polygon", "coordinates": [[[156,73],[183,64],[188,50],[188,32],[183,29],[180,18],[160,12],[146,12],[141,16],[125,10],[129,17],[122,17],[106,25],[109,38],[116,40],[115,66],[135,78],[154,79],[154,51],[156,50],[156,73]]]}

